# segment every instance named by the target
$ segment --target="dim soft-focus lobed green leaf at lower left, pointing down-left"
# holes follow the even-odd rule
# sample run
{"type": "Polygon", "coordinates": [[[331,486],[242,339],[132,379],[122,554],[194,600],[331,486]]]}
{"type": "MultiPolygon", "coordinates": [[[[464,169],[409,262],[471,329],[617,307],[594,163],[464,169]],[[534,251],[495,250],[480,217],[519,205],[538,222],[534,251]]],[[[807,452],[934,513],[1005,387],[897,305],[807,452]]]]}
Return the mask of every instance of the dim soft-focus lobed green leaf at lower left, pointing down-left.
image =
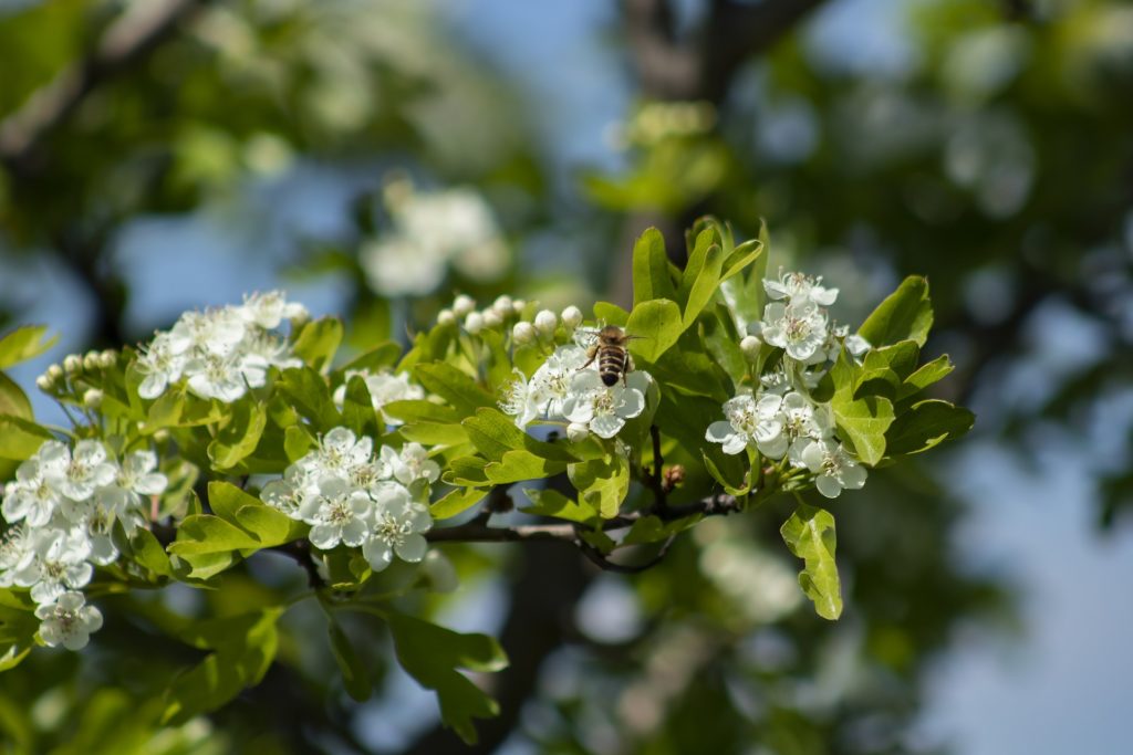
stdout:
{"type": "Polygon", "coordinates": [[[165,690],[161,722],[180,726],[214,711],[246,687],[259,684],[275,659],[280,608],[190,625],[182,638],[213,650],[201,663],[178,676],[165,690]]]}

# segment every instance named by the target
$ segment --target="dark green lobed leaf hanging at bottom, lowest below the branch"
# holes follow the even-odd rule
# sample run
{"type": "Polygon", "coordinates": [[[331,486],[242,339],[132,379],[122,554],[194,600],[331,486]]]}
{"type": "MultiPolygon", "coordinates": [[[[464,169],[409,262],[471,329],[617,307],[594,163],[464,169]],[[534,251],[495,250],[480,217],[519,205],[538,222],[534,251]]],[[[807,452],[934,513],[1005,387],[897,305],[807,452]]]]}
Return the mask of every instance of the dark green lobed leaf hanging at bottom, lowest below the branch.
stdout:
{"type": "Polygon", "coordinates": [[[499,671],[508,657],[492,637],[460,634],[404,614],[390,614],[390,632],[402,668],[436,690],[441,720],[466,744],[477,740],[474,719],[499,715],[500,706],[457,669],[499,671]]]}

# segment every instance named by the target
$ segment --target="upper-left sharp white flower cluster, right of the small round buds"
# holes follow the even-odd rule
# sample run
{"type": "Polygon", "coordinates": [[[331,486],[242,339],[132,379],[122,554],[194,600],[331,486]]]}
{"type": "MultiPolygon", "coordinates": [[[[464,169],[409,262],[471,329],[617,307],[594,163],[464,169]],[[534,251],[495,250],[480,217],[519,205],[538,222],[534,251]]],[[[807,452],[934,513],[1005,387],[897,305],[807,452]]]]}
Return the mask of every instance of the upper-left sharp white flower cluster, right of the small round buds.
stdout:
{"type": "Polygon", "coordinates": [[[284,319],[307,318],[303,304],[281,291],[246,297],[239,307],[185,312],[169,331],[159,331],[142,348],[138,386],[143,398],[156,398],[182,378],[202,398],[231,403],[267,379],[267,368],[301,367],[284,337],[276,333],[284,319]]]}

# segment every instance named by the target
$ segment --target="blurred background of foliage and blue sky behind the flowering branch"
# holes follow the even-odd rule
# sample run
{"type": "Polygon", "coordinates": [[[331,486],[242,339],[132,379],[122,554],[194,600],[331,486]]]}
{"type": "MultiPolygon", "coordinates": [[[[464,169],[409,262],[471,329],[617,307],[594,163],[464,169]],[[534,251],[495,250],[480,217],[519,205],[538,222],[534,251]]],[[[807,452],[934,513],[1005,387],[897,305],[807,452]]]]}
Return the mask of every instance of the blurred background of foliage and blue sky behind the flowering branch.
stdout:
{"type": "MultiPolygon", "coordinates": [[[[841,621],[803,604],[782,512],[636,576],[453,548],[428,610],[512,658],[475,749],[381,636],[350,702],[301,612],[261,687],[163,731],[186,657],[122,604],[0,677],[0,752],[1127,752],[1133,6],[0,0],[0,327],[61,334],[28,392],[275,286],[355,348],[457,291],[625,301],[634,235],[680,261],[705,213],[765,217],[772,268],[824,274],[843,321],[928,275],[929,355],[979,418],[835,504],[841,621]]],[[[259,568],[248,594],[293,570],[259,568]]]]}

